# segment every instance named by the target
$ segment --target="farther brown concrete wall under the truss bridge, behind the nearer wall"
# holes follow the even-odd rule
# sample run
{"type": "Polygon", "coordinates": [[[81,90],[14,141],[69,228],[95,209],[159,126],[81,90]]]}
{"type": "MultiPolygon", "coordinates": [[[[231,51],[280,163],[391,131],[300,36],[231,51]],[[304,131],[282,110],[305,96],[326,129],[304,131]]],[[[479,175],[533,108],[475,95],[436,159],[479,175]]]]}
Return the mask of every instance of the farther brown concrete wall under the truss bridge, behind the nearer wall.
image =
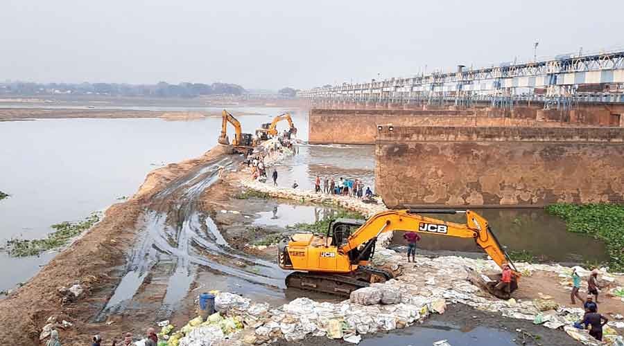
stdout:
{"type": "MultiPolygon", "coordinates": [[[[378,125],[422,127],[621,127],[624,120],[604,107],[573,109],[311,109],[312,144],[374,144],[378,125]]],[[[501,129],[491,136],[499,136],[501,129]]],[[[485,132],[487,134],[487,132],[485,132]]]]}

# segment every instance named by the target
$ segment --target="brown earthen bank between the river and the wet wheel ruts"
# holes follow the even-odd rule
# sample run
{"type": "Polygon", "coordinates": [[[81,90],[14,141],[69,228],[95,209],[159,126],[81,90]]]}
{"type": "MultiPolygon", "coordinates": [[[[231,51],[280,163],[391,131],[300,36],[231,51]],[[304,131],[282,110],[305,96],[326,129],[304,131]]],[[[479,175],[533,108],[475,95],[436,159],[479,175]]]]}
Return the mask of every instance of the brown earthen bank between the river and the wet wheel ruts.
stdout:
{"type": "Polygon", "coordinates": [[[62,332],[63,345],[85,345],[85,335],[92,332],[88,319],[101,306],[89,300],[92,292],[119,284],[116,269],[125,263],[126,252],[133,244],[135,224],[154,194],[197,165],[226,154],[227,147],[216,146],[199,158],[172,163],[150,172],[137,193],[128,201],[116,203],[104,219],[69,248],[59,253],[28,283],[6,299],[0,300],[0,340],[10,345],[39,345],[41,328],[51,315],[64,316],[73,327],[62,332]],[[78,302],[62,305],[58,288],[80,283],[86,293],[78,302]]]}

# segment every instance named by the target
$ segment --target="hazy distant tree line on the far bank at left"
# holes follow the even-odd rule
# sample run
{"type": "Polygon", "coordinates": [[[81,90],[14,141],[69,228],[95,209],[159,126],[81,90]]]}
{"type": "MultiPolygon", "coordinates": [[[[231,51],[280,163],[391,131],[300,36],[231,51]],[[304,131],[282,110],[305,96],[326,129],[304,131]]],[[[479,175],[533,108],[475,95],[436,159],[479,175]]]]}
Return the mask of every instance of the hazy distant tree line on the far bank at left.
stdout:
{"type": "Polygon", "coordinates": [[[242,95],[243,86],[228,83],[116,84],[116,83],[0,83],[0,95],[110,95],[158,98],[195,98],[202,95],[242,95]]]}

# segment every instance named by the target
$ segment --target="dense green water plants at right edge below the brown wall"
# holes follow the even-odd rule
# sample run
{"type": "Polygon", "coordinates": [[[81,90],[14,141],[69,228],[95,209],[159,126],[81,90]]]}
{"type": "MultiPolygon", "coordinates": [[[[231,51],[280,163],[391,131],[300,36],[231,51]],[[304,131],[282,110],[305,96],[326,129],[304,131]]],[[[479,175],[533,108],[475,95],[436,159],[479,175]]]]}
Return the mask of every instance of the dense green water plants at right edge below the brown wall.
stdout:
{"type": "Polygon", "coordinates": [[[557,203],[547,206],[546,211],[564,219],[570,232],[586,233],[605,242],[609,271],[624,271],[624,205],[557,203]]]}

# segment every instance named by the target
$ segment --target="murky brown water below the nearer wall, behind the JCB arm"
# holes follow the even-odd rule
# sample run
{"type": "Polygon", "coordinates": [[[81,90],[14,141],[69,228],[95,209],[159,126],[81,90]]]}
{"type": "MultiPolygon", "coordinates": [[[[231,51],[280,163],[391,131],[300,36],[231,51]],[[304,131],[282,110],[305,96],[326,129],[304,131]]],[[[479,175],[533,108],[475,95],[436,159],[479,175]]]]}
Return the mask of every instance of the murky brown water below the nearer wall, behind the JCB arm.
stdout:
{"type": "MultiPolygon", "coordinates": [[[[583,262],[607,260],[605,245],[596,239],[570,233],[558,217],[543,209],[484,209],[477,210],[485,217],[508,251],[526,250],[539,260],[556,262],[583,262]]],[[[465,224],[465,215],[426,215],[465,224]]],[[[402,233],[395,233],[395,244],[406,244],[402,233]]],[[[424,234],[419,248],[425,250],[480,251],[469,239],[440,237],[424,234]]]]}

